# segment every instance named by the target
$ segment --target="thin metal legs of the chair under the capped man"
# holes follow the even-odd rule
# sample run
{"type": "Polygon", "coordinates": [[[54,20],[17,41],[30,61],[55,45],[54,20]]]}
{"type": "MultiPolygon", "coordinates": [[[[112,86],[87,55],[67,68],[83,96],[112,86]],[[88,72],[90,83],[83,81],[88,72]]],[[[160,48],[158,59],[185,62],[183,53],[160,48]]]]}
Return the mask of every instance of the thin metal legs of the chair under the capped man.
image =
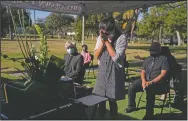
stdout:
{"type": "MultiPolygon", "coordinates": [[[[143,101],[142,100],[143,93],[144,93],[144,91],[141,92],[141,95],[140,95],[139,100],[138,100],[137,108],[139,108],[140,101],[143,101]]],[[[157,93],[156,95],[162,95],[162,94],[165,94],[165,98],[164,98],[164,100],[162,100],[161,114],[163,113],[163,108],[165,106],[167,96],[168,96],[168,102],[169,102],[169,110],[170,110],[170,113],[171,113],[171,93],[170,93],[170,85],[169,85],[169,83],[167,84],[166,91],[164,93],[160,93],[160,94],[157,93]],[[168,93],[169,93],[169,96],[168,96],[168,93]]]]}

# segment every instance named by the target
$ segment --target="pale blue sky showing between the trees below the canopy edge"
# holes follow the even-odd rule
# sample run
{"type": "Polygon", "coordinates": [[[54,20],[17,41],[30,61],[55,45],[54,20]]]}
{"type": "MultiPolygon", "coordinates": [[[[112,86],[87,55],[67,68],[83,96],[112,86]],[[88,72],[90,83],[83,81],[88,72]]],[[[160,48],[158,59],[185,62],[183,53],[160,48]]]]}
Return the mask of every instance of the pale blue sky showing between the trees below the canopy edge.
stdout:
{"type": "MultiPolygon", "coordinates": [[[[31,13],[31,19],[34,22],[34,10],[30,10],[30,13],[31,13]]],[[[35,20],[37,20],[37,18],[46,18],[48,15],[50,15],[50,13],[51,12],[35,10],[35,20]]],[[[140,21],[141,19],[142,19],[142,14],[138,16],[138,21],[140,21]]]]}

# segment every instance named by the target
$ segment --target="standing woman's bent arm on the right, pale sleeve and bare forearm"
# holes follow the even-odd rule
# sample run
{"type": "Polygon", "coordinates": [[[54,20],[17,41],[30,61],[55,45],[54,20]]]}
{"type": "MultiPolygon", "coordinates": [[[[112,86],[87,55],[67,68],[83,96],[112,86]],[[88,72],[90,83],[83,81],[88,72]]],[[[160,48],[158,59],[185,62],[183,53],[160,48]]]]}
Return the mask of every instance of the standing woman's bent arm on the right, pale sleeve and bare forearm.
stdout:
{"type": "Polygon", "coordinates": [[[127,38],[125,37],[125,35],[123,35],[117,40],[115,50],[109,41],[105,41],[105,45],[107,47],[109,55],[112,57],[112,60],[114,62],[119,62],[119,60],[121,60],[125,56],[125,50],[128,43],[127,38]]]}

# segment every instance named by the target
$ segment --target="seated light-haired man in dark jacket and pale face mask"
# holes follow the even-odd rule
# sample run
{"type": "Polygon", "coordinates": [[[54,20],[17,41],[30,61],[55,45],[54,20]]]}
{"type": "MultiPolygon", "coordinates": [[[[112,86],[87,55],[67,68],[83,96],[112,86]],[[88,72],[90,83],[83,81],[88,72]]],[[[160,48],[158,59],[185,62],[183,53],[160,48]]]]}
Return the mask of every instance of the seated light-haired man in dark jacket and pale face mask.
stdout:
{"type": "Polygon", "coordinates": [[[65,75],[72,78],[74,82],[82,84],[84,79],[84,59],[81,54],[77,52],[74,43],[66,42],[65,48],[68,54],[64,56],[65,60],[65,75]]]}

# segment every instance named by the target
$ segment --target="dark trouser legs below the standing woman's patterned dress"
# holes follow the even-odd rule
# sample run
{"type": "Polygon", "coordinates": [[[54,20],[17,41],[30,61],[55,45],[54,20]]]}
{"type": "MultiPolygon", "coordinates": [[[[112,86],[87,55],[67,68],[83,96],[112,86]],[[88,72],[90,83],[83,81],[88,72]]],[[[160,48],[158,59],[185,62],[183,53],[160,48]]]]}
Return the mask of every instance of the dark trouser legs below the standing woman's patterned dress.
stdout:
{"type": "MultiPolygon", "coordinates": [[[[109,105],[110,105],[111,119],[116,119],[117,111],[118,111],[117,102],[110,100],[109,105]]],[[[99,115],[101,120],[104,119],[105,114],[106,114],[106,101],[99,104],[99,115]]]]}

